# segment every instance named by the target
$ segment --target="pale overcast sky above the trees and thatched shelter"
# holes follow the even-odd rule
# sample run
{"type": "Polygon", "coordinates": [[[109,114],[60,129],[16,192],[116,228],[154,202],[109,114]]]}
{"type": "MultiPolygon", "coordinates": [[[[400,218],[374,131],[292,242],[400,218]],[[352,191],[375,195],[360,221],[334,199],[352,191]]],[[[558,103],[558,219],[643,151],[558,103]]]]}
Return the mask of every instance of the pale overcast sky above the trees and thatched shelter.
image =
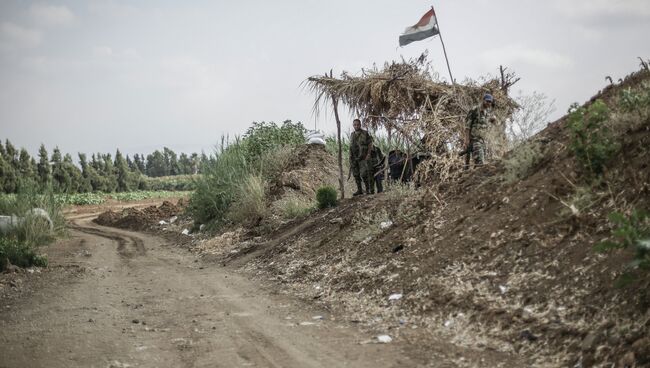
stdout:
{"type": "Polygon", "coordinates": [[[648,0],[0,0],[0,139],[76,157],[210,153],[254,121],[331,133],[309,76],[428,50],[448,79],[439,37],[398,47],[431,6],[456,80],[504,65],[514,94],[555,101],[551,119],[650,58],[648,0]]]}

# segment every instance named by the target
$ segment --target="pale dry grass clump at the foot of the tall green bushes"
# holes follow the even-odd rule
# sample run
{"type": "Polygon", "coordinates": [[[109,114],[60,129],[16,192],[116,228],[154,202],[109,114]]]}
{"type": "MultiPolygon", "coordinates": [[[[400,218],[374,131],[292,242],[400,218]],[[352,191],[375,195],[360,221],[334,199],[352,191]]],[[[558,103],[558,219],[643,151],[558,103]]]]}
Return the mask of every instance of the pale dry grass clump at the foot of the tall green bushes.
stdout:
{"type": "Polygon", "coordinates": [[[255,226],[266,212],[266,182],[259,175],[249,175],[237,186],[228,217],[235,223],[255,226]]]}

